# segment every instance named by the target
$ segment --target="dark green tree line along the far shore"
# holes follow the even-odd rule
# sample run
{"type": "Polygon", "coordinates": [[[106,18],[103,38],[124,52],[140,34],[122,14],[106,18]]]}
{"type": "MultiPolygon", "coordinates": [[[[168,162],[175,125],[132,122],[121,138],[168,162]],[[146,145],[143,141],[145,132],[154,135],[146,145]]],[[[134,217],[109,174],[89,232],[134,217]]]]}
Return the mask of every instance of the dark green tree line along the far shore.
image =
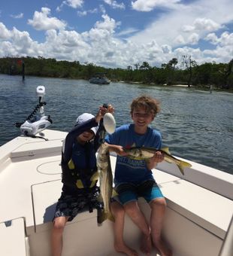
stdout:
{"type": "Polygon", "coordinates": [[[0,73],[8,75],[34,75],[52,78],[89,79],[104,72],[111,81],[139,82],[143,84],[188,84],[197,87],[233,89],[233,59],[228,63],[206,62],[198,65],[191,56],[182,56],[152,67],[148,62],[135,63],[126,69],[107,69],[93,63],[80,64],[56,59],[35,57],[0,58],[0,73]]]}

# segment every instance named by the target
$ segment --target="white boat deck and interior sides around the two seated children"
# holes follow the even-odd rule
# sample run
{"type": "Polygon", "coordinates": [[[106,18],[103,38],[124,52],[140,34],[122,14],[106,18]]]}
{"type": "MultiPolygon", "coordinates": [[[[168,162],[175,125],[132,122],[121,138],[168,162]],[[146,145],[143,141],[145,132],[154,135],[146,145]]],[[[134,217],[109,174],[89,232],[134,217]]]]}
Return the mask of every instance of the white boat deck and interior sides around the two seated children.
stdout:
{"type": "MultiPolygon", "coordinates": [[[[44,134],[49,141],[20,136],[0,148],[1,255],[50,255],[66,133],[46,130],[44,134]]],[[[112,169],[115,160],[111,157],[112,169]]],[[[184,177],[168,163],[153,169],[168,203],[163,234],[174,255],[218,255],[233,214],[233,175],[196,163],[192,166],[185,169],[184,177]]],[[[140,205],[149,218],[150,207],[142,199],[140,205]]],[[[138,248],[140,232],[128,217],[124,236],[138,248]]],[[[104,221],[98,227],[96,211],[80,213],[65,228],[64,251],[65,256],[118,255],[113,249],[112,223],[104,221]]]]}

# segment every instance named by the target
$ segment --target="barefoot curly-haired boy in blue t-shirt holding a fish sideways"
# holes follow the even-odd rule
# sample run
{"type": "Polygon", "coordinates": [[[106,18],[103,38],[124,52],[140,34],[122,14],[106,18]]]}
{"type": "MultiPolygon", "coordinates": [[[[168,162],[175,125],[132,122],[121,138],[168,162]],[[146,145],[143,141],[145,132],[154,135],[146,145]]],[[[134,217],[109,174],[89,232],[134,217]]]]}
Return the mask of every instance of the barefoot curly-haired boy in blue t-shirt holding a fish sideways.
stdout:
{"type": "Polygon", "coordinates": [[[138,253],[123,241],[125,211],[143,233],[141,251],[150,254],[153,242],[162,256],[171,255],[171,251],[161,239],[166,202],[151,171],[157,163],[162,162],[164,156],[158,151],[148,161],[132,160],[127,157],[127,153],[123,149],[133,146],[157,149],[162,147],[161,134],[149,127],[158,112],[159,102],[156,99],[150,96],[140,96],[134,99],[131,105],[131,116],[134,123],[120,126],[115,133],[105,138],[109,150],[117,154],[114,184],[120,203],[114,198],[111,203],[111,210],[115,218],[114,246],[116,251],[130,256],[136,256],[138,253]],[[150,224],[147,224],[138,207],[138,197],[144,197],[150,205],[150,224]]]}

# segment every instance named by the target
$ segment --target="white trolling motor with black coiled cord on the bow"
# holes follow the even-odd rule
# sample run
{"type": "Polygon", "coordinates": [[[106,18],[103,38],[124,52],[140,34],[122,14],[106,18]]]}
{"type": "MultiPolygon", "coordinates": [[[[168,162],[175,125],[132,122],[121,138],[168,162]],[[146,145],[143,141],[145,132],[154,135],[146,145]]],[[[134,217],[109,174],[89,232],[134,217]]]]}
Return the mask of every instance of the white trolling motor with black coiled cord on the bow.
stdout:
{"type": "Polygon", "coordinates": [[[50,119],[50,115],[44,115],[44,105],[46,105],[46,102],[43,102],[42,99],[45,95],[45,87],[38,86],[36,88],[36,94],[39,97],[38,105],[35,106],[24,123],[15,123],[15,126],[20,128],[21,133],[25,136],[35,137],[35,134],[41,133],[41,131],[53,123],[50,119]],[[40,116],[36,115],[37,111],[39,111],[40,116]]]}

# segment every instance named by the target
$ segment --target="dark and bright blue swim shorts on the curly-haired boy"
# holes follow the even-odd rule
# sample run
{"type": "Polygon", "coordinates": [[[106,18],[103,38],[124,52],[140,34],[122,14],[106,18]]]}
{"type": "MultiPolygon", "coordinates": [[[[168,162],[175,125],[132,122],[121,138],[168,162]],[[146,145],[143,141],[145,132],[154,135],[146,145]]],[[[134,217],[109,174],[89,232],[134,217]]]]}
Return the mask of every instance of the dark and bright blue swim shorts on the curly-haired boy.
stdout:
{"type": "MultiPolygon", "coordinates": [[[[144,197],[147,203],[150,203],[156,198],[164,198],[161,190],[153,179],[143,181],[139,184],[132,182],[116,184],[116,193],[120,203],[123,205],[131,201],[138,200],[138,197],[144,197]]],[[[112,202],[117,199],[113,198],[112,202]]]]}

